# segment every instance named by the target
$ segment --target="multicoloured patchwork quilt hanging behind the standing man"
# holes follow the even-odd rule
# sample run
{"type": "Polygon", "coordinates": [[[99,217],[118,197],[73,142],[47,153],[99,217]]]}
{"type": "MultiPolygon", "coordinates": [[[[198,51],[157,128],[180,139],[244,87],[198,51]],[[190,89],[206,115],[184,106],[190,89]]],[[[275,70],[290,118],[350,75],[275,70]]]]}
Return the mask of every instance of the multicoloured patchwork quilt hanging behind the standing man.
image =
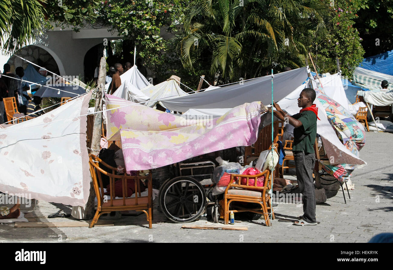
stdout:
{"type": "MultiPolygon", "coordinates": [[[[351,151],[351,153],[359,157],[359,150],[362,149],[365,144],[365,131],[360,127],[360,123],[349,111],[325,95],[323,91],[320,89],[316,91],[317,99],[322,105],[322,108],[325,109],[330,124],[338,134],[338,139],[340,139],[343,145],[351,151]]],[[[323,138],[322,142],[325,148],[331,145],[324,142],[323,138]]],[[[330,164],[331,162],[332,161],[321,161],[323,169],[336,179],[347,182],[349,175],[355,169],[355,165],[330,164]]],[[[332,163],[334,163],[334,161],[332,163]]]]}

